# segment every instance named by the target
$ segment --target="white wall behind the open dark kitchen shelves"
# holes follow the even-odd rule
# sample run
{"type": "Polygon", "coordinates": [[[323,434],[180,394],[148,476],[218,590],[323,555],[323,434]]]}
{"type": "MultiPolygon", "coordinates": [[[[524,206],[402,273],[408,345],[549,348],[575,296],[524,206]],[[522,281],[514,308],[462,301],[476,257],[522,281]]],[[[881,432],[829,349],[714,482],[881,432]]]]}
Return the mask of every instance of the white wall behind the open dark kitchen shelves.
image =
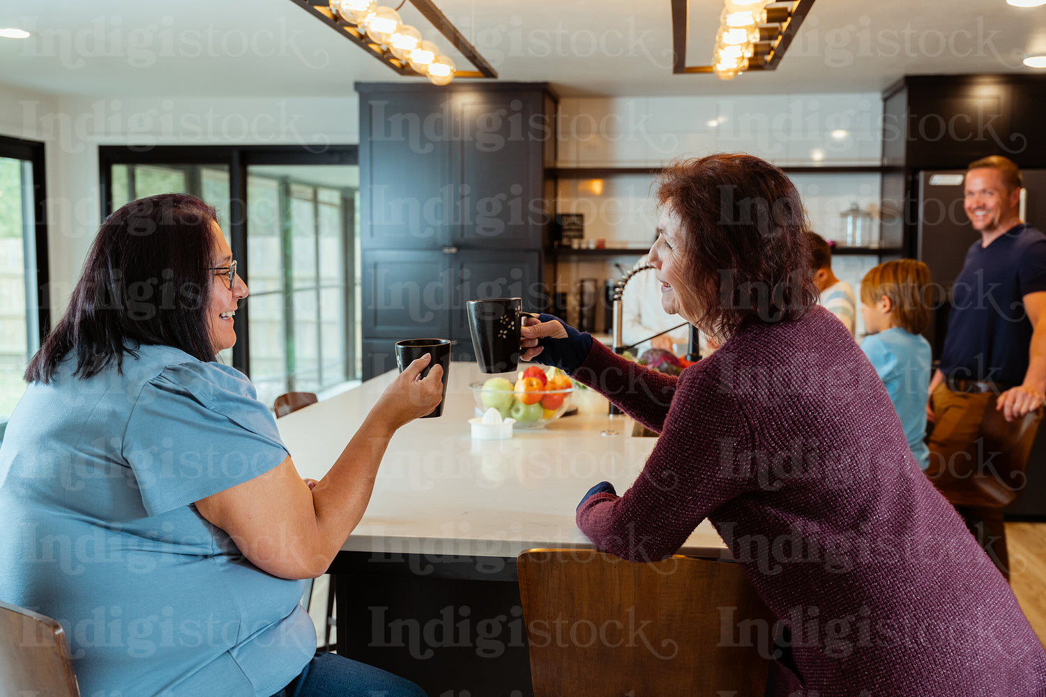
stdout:
{"type": "MultiPolygon", "coordinates": [[[[878,166],[882,110],[876,93],[565,98],[556,124],[556,164],[658,167],[676,158],[748,153],[779,166],[878,166]]],[[[813,229],[825,238],[844,241],[840,213],[852,202],[876,216],[878,234],[879,173],[803,172],[791,178],[813,229]]],[[[645,175],[612,176],[599,182],[561,179],[558,212],[584,213],[586,238],[650,243],[658,218],[654,179],[645,175]]],[[[558,270],[556,289],[572,300],[578,279],[596,278],[601,283],[619,275],[614,262],[628,266],[636,256],[568,257],[569,262],[558,270]]],[[[839,256],[834,270],[857,288],[877,262],[876,257],[839,256]]]]}

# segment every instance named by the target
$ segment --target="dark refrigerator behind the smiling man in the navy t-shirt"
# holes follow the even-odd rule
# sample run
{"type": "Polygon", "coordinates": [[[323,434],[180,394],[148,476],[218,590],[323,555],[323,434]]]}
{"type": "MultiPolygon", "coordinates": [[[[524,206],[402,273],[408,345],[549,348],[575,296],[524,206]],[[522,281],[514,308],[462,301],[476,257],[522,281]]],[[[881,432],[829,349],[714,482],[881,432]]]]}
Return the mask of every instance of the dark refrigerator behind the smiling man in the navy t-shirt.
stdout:
{"type": "MultiPolygon", "coordinates": [[[[948,330],[952,283],[962,269],[967,250],[980,234],[962,209],[964,170],[925,170],[918,173],[918,230],[915,255],[930,268],[935,287],[943,295],[924,332],[933,357],[940,357],[948,330]]],[[[1022,169],[1021,219],[1046,232],[1046,169],[1022,169]]],[[[1010,517],[1046,518],[1046,423],[1028,459],[1025,491],[1006,509],[1010,517]]]]}

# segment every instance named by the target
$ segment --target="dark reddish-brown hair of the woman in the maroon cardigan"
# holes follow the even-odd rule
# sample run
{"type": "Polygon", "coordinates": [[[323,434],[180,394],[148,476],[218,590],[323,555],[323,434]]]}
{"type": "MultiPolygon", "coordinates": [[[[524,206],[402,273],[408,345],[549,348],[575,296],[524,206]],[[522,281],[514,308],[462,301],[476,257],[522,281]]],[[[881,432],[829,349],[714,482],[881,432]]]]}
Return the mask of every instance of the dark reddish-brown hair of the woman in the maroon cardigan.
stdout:
{"type": "Polygon", "coordinates": [[[817,301],[802,202],[777,167],[751,155],[677,161],[658,201],[680,218],[703,329],[796,320],[817,301]]]}

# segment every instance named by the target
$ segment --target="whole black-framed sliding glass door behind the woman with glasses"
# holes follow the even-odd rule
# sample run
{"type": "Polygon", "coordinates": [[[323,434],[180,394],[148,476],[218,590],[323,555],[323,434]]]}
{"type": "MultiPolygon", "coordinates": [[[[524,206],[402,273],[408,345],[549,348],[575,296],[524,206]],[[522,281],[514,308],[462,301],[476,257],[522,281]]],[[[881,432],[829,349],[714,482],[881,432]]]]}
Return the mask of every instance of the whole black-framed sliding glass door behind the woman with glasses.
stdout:
{"type": "Polygon", "coordinates": [[[99,148],[106,210],[184,191],[215,207],[250,296],[220,359],[268,404],[360,375],[355,146],[99,148]]]}

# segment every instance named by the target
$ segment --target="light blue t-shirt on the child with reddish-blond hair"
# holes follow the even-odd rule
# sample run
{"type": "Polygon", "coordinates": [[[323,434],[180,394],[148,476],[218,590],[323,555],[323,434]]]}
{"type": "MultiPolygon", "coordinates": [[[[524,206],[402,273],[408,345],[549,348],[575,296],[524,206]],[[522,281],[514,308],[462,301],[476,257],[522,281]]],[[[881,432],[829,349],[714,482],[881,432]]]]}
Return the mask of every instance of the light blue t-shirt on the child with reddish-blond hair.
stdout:
{"type": "Polygon", "coordinates": [[[930,465],[926,436],[926,402],[930,392],[930,343],[901,327],[869,334],[861,342],[868,363],[876,369],[905,429],[908,449],[919,467],[930,465]]]}

